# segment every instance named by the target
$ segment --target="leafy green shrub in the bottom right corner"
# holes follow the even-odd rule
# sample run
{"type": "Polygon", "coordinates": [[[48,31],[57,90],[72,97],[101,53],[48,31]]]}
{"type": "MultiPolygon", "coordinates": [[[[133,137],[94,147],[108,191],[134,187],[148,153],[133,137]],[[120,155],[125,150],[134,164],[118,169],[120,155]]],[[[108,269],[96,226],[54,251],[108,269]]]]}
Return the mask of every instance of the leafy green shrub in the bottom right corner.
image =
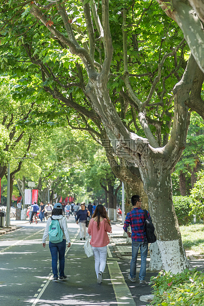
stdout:
{"type": "Polygon", "coordinates": [[[153,294],[151,305],[156,306],[203,306],[204,305],[204,273],[194,269],[184,270],[172,275],[160,272],[151,277],[153,294]]]}

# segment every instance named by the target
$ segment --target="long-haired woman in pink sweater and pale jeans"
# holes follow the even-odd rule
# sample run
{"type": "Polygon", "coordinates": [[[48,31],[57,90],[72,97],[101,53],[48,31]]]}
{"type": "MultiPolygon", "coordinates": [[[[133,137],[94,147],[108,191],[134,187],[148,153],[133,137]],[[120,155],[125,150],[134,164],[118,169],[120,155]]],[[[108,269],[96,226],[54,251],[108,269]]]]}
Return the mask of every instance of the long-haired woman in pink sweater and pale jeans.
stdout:
{"type": "Polygon", "coordinates": [[[106,267],[107,245],[110,242],[107,232],[112,232],[111,224],[105,207],[100,204],[96,206],[88,226],[88,233],[91,235],[90,244],[93,248],[98,284],[102,282],[103,271],[106,267]]]}

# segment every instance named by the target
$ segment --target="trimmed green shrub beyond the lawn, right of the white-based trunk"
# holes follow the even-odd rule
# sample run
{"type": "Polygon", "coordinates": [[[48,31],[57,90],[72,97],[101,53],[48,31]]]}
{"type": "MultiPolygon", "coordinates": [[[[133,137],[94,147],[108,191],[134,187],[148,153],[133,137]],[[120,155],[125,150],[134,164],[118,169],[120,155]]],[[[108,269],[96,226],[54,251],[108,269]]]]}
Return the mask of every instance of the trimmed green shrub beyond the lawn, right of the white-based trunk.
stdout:
{"type": "Polygon", "coordinates": [[[173,196],[173,205],[179,225],[193,223],[193,216],[190,215],[192,202],[193,199],[188,196],[173,196]]]}

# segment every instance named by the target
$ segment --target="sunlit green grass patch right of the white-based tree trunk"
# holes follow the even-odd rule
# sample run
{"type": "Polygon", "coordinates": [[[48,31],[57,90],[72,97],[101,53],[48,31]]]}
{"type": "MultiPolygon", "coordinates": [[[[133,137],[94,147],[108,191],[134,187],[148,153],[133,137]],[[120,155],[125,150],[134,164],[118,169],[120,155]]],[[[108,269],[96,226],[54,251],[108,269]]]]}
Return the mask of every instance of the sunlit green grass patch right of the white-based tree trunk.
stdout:
{"type": "Polygon", "coordinates": [[[183,246],[185,250],[192,250],[204,254],[204,225],[194,224],[180,226],[183,246]]]}

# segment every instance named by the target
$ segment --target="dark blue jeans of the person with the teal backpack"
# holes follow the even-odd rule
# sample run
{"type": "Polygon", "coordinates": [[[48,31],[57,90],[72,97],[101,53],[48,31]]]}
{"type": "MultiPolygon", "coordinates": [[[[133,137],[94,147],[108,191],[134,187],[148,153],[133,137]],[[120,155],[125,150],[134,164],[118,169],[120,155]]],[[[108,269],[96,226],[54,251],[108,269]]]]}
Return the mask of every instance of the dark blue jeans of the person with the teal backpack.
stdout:
{"type": "Polygon", "coordinates": [[[54,277],[58,277],[58,271],[57,271],[58,254],[59,254],[59,276],[64,276],[66,239],[63,239],[62,242],[59,243],[52,243],[49,241],[49,250],[52,257],[52,273],[54,274],[54,277]]]}

